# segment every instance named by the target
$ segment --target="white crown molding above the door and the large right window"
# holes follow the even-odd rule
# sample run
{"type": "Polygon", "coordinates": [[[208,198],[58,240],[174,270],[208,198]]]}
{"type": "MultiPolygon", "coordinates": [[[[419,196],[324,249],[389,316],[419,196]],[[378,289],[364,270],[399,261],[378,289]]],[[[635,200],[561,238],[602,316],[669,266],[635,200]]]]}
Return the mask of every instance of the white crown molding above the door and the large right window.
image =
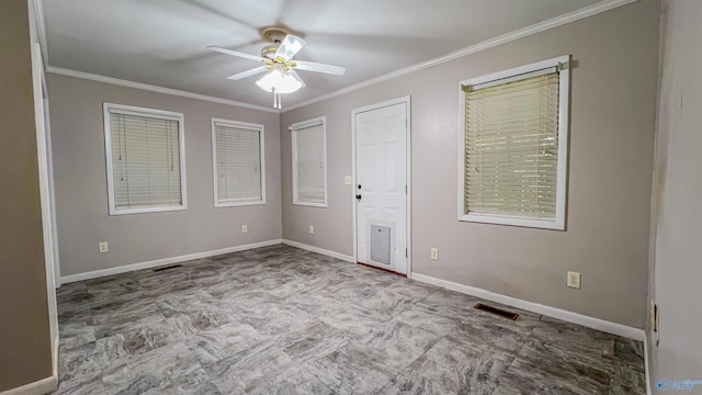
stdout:
{"type": "Polygon", "coordinates": [[[467,47],[454,50],[452,53],[449,53],[446,55],[430,59],[430,60],[426,60],[422,63],[418,63],[416,65],[411,65],[411,66],[407,66],[400,69],[397,69],[395,71],[390,71],[388,74],[378,76],[378,77],[374,77],[371,79],[367,79],[365,81],[359,82],[359,83],[354,83],[352,86],[348,86],[344,88],[341,88],[337,91],[330,92],[330,93],[326,93],[306,101],[303,101],[301,103],[297,104],[293,104],[291,106],[287,106],[285,109],[283,109],[281,112],[285,113],[288,111],[293,111],[309,104],[314,104],[324,100],[328,100],[344,93],[350,93],[353,91],[356,91],[359,89],[363,89],[366,87],[371,87],[381,82],[385,82],[385,81],[389,81],[392,79],[398,78],[398,77],[403,77],[403,76],[407,76],[409,74],[416,72],[416,71],[420,71],[423,69],[428,69],[430,67],[434,67],[434,66],[439,66],[442,64],[445,64],[448,61],[451,60],[455,60],[457,58],[462,58],[464,56],[471,55],[471,54],[475,54],[478,53],[480,50],[485,50],[485,49],[489,49],[492,47],[496,47],[498,45],[502,45],[502,44],[507,44],[509,42],[513,42],[536,33],[541,33],[541,32],[545,32],[547,30],[554,29],[554,27],[558,27],[562,26],[564,24],[567,23],[571,23],[575,21],[579,21],[581,19],[588,18],[588,16],[592,16],[592,15],[597,15],[599,13],[605,12],[605,11],[610,11],[612,9],[622,7],[622,5],[626,5],[626,4],[631,4],[633,2],[636,2],[638,0],[602,0],[598,3],[595,3],[592,5],[588,5],[588,7],[584,7],[579,10],[573,11],[573,12],[568,12],[565,13],[563,15],[558,15],[556,18],[552,18],[550,20],[545,20],[539,23],[535,23],[533,25],[523,27],[523,29],[519,29],[516,30],[513,32],[510,33],[506,33],[502,35],[499,35],[497,37],[494,38],[488,38],[486,41],[483,41],[480,43],[474,44],[474,45],[469,45],[467,47]]]}

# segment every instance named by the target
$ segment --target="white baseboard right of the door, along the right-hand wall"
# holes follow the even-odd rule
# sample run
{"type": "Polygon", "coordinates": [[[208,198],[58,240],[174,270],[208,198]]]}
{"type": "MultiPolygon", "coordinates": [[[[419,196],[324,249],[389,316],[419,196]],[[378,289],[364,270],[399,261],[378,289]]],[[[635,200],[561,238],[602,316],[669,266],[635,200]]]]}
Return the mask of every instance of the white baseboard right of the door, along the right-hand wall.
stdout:
{"type": "Polygon", "coordinates": [[[601,330],[612,335],[618,335],[629,339],[641,340],[641,341],[645,340],[645,331],[643,329],[630,327],[626,325],[611,323],[604,319],[595,318],[595,317],[581,315],[578,313],[564,311],[561,308],[545,306],[542,304],[523,301],[517,297],[498,294],[498,293],[478,289],[478,287],[463,285],[463,284],[454,283],[451,281],[446,281],[446,280],[435,279],[424,274],[412,273],[411,279],[417,280],[419,282],[428,283],[428,284],[439,285],[448,290],[461,292],[461,293],[484,298],[487,301],[497,302],[508,306],[525,309],[528,312],[562,319],[568,323],[582,325],[588,328],[601,330]]]}

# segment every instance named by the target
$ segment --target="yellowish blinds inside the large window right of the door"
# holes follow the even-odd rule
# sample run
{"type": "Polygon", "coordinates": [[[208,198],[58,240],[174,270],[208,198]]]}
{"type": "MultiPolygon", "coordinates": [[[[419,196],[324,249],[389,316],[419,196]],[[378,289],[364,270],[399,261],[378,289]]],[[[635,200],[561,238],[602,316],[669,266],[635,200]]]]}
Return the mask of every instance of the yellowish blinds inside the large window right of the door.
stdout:
{"type": "MultiPolygon", "coordinates": [[[[533,76],[535,75],[535,76],[533,76]]],[[[464,86],[464,214],[554,221],[559,75],[464,86]]]]}

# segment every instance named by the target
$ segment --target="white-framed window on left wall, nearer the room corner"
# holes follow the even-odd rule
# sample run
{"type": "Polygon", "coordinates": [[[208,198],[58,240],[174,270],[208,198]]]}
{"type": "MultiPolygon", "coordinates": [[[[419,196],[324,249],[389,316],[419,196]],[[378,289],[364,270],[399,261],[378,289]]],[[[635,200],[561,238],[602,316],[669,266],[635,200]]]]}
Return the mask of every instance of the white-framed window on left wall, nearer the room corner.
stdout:
{"type": "Polygon", "coordinates": [[[263,125],[213,120],[215,207],[265,203],[263,125]]]}

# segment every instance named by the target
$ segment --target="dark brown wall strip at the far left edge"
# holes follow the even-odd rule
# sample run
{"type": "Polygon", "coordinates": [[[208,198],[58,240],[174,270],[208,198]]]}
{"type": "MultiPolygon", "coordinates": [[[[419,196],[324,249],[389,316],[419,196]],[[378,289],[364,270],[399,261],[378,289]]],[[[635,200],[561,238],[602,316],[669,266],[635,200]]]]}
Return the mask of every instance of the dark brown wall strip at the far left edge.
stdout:
{"type": "Polygon", "coordinates": [[[26,0],[0,2],[0,392],[52,375],[26,0]]]}

